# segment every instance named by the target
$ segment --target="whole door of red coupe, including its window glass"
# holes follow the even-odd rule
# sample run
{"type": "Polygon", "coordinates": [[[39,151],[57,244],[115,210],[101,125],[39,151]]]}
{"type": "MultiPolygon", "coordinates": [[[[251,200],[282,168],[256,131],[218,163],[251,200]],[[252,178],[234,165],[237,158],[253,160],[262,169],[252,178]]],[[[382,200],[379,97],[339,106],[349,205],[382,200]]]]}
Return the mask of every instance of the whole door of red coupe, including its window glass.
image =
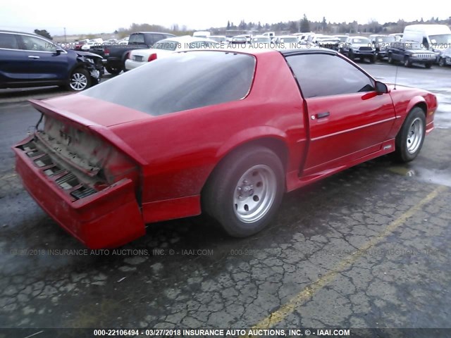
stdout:
{"type": "Polygon", "coordinates": [[[287,57],[307,104],[310,144],[304,174],[337,168],[378,151],[395,122],[390,94],[335,54],[287,57]]]}

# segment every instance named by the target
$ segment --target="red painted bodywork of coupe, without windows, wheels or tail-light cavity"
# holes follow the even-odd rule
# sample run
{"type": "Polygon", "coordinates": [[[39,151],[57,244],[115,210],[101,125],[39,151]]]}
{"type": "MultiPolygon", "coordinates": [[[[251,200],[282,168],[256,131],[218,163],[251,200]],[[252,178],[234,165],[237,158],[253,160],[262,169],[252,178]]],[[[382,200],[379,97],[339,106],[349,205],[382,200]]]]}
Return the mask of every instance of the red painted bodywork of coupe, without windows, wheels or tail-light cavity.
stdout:
{"type": "Polygon", "coordinates": [[[279,155],[286,159],[290,191],[394,151],[395,136],[417,104],[425,105],[428,131],[433,128],[437,101],[428,92],[398,86],[387,94],[304,100],[282,54],[266,51],[254,57],[247,97],[216,106],[151,116],[82,94],[33,101],[42,113],[112,144],[136,163],[139,175],[134,184],[121,180],[70,201],[18,149],[24,140],[15,151],[25,187],[87,246],[115,246],[144,234],[144,223],[199,214],[209,175],[243,144],[265,140],[283,149],[279,155]],[[326,111],[327,118],[316,118],[326,111]]]}

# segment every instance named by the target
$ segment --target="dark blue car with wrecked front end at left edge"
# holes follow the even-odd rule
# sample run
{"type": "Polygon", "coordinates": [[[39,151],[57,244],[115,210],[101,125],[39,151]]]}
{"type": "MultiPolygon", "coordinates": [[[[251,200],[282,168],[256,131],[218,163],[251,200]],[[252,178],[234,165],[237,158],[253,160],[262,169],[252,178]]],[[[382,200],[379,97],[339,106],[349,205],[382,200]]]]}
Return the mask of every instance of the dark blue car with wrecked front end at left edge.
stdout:
{"type": "Polygon", "coordinates": [[[80,92],[100,82],[101,57],[39,35],[0,30],[0,88],[58,85],[80,92]]]}

